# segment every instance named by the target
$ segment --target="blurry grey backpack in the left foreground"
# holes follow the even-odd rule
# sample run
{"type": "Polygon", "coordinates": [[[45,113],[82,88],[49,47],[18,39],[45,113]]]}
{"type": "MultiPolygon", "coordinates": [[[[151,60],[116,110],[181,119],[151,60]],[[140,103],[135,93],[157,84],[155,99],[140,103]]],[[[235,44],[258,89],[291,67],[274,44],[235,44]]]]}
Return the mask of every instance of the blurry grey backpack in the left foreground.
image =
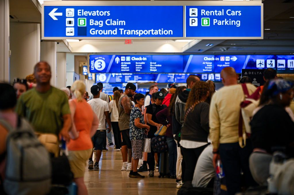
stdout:
{"type": "Polygon", "coordinates": [[[4,191],[8,195],[47,194],[51,187],[49,153],[24,119],[19,118],[16,129],[3,119],[0,123],[8,131],[4,191]]]}

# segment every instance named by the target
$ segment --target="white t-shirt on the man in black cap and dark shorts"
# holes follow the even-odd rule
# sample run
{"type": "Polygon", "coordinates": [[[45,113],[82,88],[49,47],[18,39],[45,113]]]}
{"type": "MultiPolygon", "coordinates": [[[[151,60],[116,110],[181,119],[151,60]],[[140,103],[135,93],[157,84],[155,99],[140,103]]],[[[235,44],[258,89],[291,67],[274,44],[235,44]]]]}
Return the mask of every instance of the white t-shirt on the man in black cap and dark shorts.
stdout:
{"type": "Polygon", "coordinates": [[[105,130],[106,124],[104,112],[109,111],[107,102],[100,98],[94,98],[88,101],[88,104],[90,104],[92,110],[95,112],[99,120],[99,126],[97,130],[105,130]]]}

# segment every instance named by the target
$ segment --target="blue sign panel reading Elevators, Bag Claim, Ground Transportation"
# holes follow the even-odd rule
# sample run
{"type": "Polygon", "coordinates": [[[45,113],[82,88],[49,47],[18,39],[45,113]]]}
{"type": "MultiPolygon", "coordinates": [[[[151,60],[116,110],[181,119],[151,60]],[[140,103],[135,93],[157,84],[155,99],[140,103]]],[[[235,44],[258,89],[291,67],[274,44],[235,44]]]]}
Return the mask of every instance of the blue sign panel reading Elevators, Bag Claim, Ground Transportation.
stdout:
{"type": "Polygon", "coordinates": [[[183,6],[45,5],[43,13],[45,39],[183,37],[183,6]]]}

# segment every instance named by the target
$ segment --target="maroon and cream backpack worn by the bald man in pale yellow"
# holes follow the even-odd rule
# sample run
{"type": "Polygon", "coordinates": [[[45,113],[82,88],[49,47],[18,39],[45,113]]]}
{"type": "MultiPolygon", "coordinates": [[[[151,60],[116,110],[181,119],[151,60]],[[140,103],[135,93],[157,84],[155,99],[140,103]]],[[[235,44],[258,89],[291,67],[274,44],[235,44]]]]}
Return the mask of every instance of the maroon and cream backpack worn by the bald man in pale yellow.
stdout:
{"type": "Polygon", "coordinates": [[[246,138],[250,138],[251,134],[251,126],[250,121],[253,117],[253,111],[258,107],[259,99],[260,99],[260,88],[257,88],[253,94],[249,95],[247,86],[245,83],[241,84],[243,93],[245,95],[244,101],[240,104],[240,117],[239,117],[239,126],[238,126],[238,134],[239,134],[239,145],[240,147],[245,147],[246,138]],[[243,130],[243,122],[245,126],[245,130],[243,130]]]}

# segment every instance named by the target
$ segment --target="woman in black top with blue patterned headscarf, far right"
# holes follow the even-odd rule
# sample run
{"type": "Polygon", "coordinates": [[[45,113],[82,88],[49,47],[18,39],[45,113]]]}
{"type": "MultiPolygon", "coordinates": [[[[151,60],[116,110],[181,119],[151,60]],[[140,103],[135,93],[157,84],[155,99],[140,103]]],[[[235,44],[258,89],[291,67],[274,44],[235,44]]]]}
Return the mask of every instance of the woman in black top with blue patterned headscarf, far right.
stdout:
{"type": "Polygon", "coordinates": [[[259,110],[250,122],[254,148],[249,159],[250,171],[260,185],[267,185],[274,147],[284,148],[286,155],[294,157],[294,123],[285,109],[293,93],[293,83],[285,79],[271,80],[265,85],[259,110]]]}

